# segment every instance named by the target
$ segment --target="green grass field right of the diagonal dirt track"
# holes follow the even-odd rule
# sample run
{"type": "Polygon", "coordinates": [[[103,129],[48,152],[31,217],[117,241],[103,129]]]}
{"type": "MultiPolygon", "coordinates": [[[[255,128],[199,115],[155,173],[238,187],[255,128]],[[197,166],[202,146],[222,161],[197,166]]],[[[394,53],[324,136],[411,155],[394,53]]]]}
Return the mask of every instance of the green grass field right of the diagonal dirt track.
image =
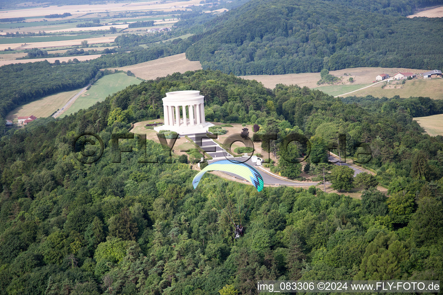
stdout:
{"type": "Polygon", "coordinates": [[[71,113],[74,114],[81,109],[87,109],[97,103],[97,101],[105,100],[108,95],[118,92],[129,85],[139,84],[140,82],[141,80],[130,77],[125,73],[117,73],[101,77],[91,86],[91,88],[89,88],[88,91],[78,97],[71,107],[60,115],[60,117],[62,118],[71,113]]]}

